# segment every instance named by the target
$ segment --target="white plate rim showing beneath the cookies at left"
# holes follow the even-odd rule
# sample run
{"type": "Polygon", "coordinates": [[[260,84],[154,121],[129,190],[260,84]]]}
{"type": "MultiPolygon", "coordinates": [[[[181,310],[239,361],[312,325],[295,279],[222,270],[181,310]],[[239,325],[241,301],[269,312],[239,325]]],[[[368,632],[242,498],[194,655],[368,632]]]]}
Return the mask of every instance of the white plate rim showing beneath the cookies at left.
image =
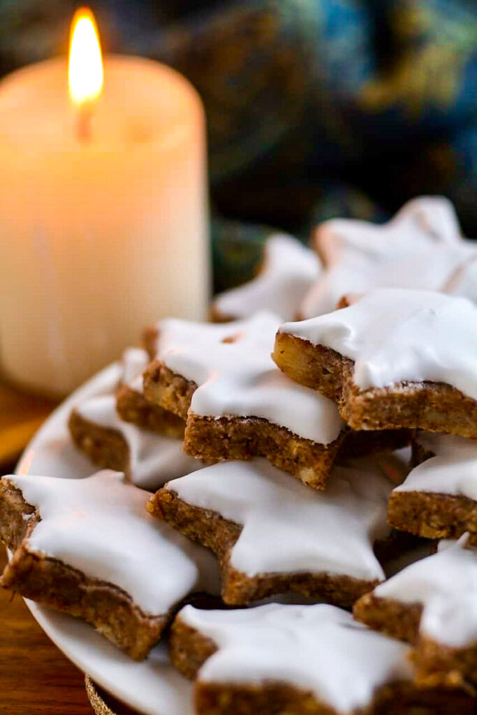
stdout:
{"type": "MultiPolygon", "coordinates": [[[[110,365],[65,400],[31,440],[19,470],[28,464],[31,474],[79,478],[94,473],[69,438],[69,413],[75,403],[96,395],[99,384],[114,388],[118,377],[119,365],[110,365]]],[[[144,715],[192,715],[192,685],[169,664],[164,646],[135,663],[78,618],[32,601],[26,605],[65,656],[117,699],[144,715]]]]}

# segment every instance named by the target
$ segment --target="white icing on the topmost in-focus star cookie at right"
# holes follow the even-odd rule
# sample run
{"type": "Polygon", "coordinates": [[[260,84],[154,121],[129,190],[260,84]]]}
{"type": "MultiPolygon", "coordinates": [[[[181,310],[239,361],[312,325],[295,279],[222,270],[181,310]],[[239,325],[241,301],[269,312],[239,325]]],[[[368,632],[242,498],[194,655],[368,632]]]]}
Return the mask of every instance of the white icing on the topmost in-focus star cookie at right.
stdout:
{"type": "Polygon", "coordinates": [[[477,306],[466,298],[373,290],[328,315],[285,323],[280,332],[354,360],[363,390],[431,380],[477,400],[477,306]]]}

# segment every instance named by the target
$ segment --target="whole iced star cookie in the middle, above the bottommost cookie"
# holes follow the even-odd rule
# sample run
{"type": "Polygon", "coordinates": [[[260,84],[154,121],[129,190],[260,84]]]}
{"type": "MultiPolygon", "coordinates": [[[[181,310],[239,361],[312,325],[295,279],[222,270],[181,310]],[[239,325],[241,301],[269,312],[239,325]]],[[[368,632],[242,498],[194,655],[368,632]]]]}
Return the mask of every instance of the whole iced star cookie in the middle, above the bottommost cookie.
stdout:
{"type": "Polygon", "coordinates": [[[389,534],[391,488],[374,460],[335,467],[321,492],[254,459],[174,479],[149,508],[214,551],[225,603],[299,593],[350,606],[384,578],[373,545],[389,534]]]}

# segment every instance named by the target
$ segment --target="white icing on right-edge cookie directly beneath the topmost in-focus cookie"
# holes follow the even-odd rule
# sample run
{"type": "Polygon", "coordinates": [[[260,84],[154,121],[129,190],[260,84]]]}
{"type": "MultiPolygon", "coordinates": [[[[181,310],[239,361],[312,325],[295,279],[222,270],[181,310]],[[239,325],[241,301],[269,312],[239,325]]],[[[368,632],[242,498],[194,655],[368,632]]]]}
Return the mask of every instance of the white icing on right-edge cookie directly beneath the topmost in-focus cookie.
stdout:
{"type": "Polygon", "coordinates": [[[463,495],[477,501],[477,440],[420,432],[418,442],[436,456],[411,470],[395,491],[463,495]]]}

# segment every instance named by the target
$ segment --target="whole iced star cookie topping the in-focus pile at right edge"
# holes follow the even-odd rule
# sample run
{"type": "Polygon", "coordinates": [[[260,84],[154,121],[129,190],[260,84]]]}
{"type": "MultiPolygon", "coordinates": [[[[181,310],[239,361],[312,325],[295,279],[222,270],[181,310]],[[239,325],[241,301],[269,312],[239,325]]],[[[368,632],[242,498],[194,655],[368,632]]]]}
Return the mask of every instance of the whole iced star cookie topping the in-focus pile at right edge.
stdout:
{"type": "Polygon", "coordinates": [[[328,315],[285,323],[273,359],[338,403],[355,430],[477,437],[477,306],[425,290],[373,290],[328,315]]]}

